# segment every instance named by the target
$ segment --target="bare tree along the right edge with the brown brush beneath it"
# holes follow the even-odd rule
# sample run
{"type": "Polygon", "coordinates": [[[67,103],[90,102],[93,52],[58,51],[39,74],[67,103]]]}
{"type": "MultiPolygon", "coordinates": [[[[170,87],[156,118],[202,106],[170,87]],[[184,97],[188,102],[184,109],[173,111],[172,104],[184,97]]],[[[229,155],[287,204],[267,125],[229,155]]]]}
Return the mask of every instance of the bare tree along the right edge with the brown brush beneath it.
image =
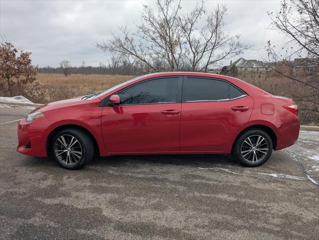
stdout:
{"type": "Polygon", "coordinates": [[[281,46],[268,41],[266,50],[271,63],[269,67],[285,79],[285,84],[281,85],[282,91],[293,97],[304,111],[314,113],[313,121],[318,122],[319,2],[282,1],[280,10],[268,15],[272,23],[271,29],[285,36],[281,46]],[[299,61],[292,62],[297,58],[299,61]],[[311,71],[302,66],[311,66],[311,71]]]}

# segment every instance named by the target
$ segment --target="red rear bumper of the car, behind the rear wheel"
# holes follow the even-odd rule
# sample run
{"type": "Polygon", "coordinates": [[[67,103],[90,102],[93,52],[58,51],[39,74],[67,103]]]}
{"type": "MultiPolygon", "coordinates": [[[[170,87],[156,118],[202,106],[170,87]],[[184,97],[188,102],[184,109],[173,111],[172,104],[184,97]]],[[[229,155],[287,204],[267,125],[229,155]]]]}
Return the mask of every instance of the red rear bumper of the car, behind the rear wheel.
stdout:
{"type": "Polygon", "coordinates": [[[300,122],[297,117],[288,123],[277,126],[279,136],[277,136],[276,150],[280,150],[293,145],[299,136],[300,122]]]}

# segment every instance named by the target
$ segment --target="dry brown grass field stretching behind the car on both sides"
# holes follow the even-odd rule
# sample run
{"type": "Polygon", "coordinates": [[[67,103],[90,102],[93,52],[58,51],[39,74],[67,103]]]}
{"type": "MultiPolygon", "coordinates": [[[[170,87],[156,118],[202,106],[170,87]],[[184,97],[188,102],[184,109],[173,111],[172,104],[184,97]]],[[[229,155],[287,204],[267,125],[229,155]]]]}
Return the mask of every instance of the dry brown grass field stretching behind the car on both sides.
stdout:
{"type": "MultiPolygon", "coordinates": [[[[82,75],[72,74],[38,74],[41,93],[35,97],[28,93],[34,91],[24,89],[27,94],[19,92],[16,95],[24,95],[35,103],[49,103],[68,99],[76,96],[89,95],[102,92],[119,83],[135,78],[136,76],[124,75],[82,75]]],[[[302,124],[319,123],[319,113],[317,111],[318,94],[311,92],[311,89],[304,85],[298,85],[281,76],[238,76],[248,83],[251,83],[271,94],[292,98],[299,106],[299,119],[302,124]]],[[[1,96],[1,90],[0,90],[1,96]]]]}

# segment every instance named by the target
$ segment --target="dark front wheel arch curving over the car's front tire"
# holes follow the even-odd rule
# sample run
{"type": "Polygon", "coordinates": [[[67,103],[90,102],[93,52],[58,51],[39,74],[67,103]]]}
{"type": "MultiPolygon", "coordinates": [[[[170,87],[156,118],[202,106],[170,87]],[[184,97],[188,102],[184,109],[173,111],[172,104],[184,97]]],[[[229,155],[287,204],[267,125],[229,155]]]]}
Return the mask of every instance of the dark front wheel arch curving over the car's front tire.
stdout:
{"type": "Polygon", "coordinates": [[[51,154],[50,145],[52,143],[53,137],[55,136],[55,134],[57,134],[58,132],[60,132],[64,129],[76,129],[76,130],[86,132],[91,137],[91,139],[93,141],[94,152],[96,152],[98,155],[100,155],[99,144],[98,144],[95,136],[87,128],[80,126],[80,125],[76,125],[76,124],[65,124],[65,125],[60,125],[54,129],[52,129],[52,131],[49,133],[49,135],[47,137],[47,142],[46,142],[46,150],[47,150],[48,156],[51,154]]]}

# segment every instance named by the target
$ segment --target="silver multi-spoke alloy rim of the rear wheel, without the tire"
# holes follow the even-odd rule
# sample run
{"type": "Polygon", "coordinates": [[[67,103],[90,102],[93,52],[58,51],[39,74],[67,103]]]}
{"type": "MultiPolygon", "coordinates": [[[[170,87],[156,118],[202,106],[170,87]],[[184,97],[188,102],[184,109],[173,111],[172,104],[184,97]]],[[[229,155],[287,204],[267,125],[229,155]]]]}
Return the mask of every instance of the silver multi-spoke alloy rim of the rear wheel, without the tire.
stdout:
{"type": "Polygon", "coordinates": [[[260,162],[267,153],[269,147],[267,140],[260,135],[251,135],[241,144],[241,156],[248,162],[260,162]]]}

